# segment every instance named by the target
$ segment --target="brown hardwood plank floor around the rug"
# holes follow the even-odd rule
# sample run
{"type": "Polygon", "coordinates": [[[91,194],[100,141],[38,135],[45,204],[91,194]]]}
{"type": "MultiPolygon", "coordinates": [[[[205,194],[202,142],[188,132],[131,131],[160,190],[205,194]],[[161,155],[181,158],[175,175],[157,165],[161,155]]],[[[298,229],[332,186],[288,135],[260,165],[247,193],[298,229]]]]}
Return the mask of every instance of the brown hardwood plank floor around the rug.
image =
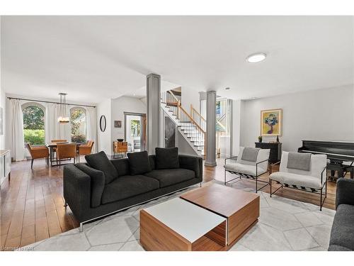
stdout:
{"type": "MultiPolygon", "coordinates": [[[[223,165],[224,160],[218,159],[217,167],[204,167],[204,181],[223,177],[223,165]]],[[[240,184],[254,188],[253,181],[240,184]]],[[[263,191],[269,193],[269,186],[263,191]]],[[[44,160],[35,160],[30,170],[30,161],[13,162],[11,181],[6,179],[1,185],[0,250],[22,247],[78,227],[72,211],[64,208],[62,193],[62,168],[46,167],[44,160]]],[[[311,193],[280,189],[277,194],[319,204],[319,196],[311,193]]],[[[329,182],[324,206],[334,209],[335,197],[336,184],[329,182]]]]}

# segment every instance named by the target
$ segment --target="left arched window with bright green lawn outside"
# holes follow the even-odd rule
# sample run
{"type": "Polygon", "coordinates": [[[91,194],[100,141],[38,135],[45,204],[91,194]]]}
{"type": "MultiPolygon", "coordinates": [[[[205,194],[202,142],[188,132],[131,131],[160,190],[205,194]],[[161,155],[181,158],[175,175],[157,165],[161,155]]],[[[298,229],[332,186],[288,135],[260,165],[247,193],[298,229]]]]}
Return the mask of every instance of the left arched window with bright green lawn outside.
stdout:
{"type": "Polygon", "coordinates": [[[25,143],[45,145],[45,108],[37,103],[23,104],[23,136],[25,143]]]}

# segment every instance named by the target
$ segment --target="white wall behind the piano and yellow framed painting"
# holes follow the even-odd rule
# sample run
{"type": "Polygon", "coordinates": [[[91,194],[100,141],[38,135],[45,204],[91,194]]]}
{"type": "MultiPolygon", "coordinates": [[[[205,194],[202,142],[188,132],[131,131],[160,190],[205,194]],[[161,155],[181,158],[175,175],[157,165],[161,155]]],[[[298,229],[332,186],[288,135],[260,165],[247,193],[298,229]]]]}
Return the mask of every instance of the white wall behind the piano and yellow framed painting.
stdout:
{"type": "MultiPolygon", "coordinates": [[[[319,89],[241,101],[241,146],[254,147],[261,110],[282,109],[282,150],[297,151],[301,140],[354,140],[354,86],[319,89]]],[[[275,140],[264,138],[263,141],[275,140]]]]}

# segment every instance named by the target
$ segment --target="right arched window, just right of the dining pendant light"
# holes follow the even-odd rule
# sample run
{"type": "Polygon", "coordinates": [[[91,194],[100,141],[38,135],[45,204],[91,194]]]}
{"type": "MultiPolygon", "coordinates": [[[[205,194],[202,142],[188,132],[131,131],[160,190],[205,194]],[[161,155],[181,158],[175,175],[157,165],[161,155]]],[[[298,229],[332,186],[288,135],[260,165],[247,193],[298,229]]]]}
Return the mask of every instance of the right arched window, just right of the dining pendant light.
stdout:
{"type": "Polygon", "coordinates": [[[86,143],[86,110],[81,107],[70,109],[70,124],[72,126],[72,142],[86,143]]]}

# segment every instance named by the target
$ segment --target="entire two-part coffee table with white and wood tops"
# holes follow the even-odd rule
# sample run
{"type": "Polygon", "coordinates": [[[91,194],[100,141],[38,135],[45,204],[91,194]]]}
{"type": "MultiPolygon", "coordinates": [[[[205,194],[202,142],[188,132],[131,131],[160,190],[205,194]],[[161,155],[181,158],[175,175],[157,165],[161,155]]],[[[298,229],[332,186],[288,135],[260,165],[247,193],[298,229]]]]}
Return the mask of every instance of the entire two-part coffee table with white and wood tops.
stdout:
{"type": "Polygon", "coordinates": [[[228,250],[258,221],[259,196],[205,185],[140,211],[145,250],[228,250]]]}

